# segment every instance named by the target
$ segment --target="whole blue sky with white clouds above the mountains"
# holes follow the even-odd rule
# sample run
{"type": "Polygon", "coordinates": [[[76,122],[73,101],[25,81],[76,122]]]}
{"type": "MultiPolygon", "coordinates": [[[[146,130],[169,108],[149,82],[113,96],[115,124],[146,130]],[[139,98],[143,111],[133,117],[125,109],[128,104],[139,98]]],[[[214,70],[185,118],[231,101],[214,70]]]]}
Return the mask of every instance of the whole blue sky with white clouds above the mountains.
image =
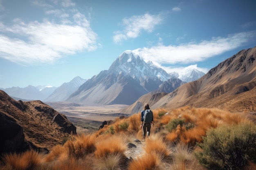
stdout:
{"type": "Polygon", "coordinates": [[[255,0],[0,0],[0,88],[90,79],[131,50],[207,73],[256,46],[255,0]]]}

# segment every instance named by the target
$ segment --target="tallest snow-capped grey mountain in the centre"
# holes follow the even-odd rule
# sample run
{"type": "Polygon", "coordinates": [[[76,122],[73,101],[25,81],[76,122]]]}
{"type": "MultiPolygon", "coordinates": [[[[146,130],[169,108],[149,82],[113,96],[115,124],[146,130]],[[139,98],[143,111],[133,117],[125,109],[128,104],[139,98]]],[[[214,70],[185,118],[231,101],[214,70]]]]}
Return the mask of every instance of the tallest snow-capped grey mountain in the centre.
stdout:
{"type": "Polygon", "coordinates": [[[124,51],[108,70],[88,79],[66,100],[87,105],[132,104],[170,79],[162,68],[124,51]]]}

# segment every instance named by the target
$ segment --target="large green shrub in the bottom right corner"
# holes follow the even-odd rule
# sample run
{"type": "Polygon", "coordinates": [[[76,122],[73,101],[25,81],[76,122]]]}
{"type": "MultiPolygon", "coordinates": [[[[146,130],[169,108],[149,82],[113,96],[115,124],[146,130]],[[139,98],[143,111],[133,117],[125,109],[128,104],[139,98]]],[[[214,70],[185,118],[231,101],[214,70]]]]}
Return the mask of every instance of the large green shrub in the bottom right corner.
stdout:
{"type": "Polygon", "coordinates": [[[195,152],[200,164],[211,170],[235,170],[256,161],[256,128],[250,123],[211,128],[195,152]]]}

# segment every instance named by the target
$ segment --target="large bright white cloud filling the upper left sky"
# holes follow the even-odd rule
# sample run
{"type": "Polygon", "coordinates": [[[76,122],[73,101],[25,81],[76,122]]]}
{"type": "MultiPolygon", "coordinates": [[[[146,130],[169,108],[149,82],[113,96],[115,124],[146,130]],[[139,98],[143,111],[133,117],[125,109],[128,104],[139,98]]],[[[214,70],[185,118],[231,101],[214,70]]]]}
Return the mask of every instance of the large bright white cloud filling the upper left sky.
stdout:
{"type": "Polygon", "coordinates": [[[88,25],[84,17],[79,25],[47,20],[42,23],[16,20],[10,27],[0,23],[1,32],[12,33],[12,37],[0,34],[0,57],[19,64],[54,63],[65,55],[94,51],[99,47],[97,34],[88,25]]]}

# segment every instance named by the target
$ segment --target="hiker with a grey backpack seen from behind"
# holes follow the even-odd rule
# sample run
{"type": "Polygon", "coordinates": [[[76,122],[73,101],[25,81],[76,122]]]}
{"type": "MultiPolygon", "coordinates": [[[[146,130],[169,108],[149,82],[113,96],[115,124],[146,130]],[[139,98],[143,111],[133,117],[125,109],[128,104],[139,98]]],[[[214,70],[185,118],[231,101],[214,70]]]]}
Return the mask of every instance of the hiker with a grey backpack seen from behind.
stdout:
{"type": "Polygon", "coordinates": [[[153,112],[150,110],[149,105],[146,103],[143,110],[141,111],[141,124],[140,128],[143,127],[143,138],[146,138],[146,134],[149,137],[151,124],[154,127],[153,112]]]}

